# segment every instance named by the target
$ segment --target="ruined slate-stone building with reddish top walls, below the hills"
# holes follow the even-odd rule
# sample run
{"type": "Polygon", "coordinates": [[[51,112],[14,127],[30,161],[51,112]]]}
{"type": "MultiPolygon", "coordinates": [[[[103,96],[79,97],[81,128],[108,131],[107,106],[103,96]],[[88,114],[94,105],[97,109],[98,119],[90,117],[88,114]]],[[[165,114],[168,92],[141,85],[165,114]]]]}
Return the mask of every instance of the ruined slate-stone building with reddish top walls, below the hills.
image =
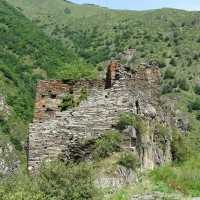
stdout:
{"type": "MultiPolygon", "coordinates": [[[[141,64],[129,71],[119,61],[111,61],[106,78],[91,81],[41,80],[37,85],[35,114],[29,126],[28,169],[37,171],[43,161],[62,158],[65,161],[90,159],[90,144],[118,123],[121,113],[134,113],[162,124],[169,117],[160,107],[160,70],[141,64]],[[80,95],[87,91],[87,99],[77,107],[60,110],[66,94],[80,95]]],[[[126,132],[126,133],[125,133],[126,132]]],[[[132,127],[126,148],[137,151],[143,168],[171,160],[170,140],[165,147],[156,138],[141,136],[132,127]]]]}

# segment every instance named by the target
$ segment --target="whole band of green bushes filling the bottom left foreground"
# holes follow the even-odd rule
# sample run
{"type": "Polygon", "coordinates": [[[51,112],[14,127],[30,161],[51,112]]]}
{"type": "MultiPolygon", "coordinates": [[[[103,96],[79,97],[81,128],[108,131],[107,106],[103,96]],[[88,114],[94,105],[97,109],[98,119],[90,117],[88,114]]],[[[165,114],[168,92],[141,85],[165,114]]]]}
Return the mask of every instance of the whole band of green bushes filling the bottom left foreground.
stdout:
{"type": "Polygon", "coordinates": [[[1,180],[1,200],[89,200],[97,194],[92,166],[87,164],[51,163],[40,174],[22,173],[1,180]]]}

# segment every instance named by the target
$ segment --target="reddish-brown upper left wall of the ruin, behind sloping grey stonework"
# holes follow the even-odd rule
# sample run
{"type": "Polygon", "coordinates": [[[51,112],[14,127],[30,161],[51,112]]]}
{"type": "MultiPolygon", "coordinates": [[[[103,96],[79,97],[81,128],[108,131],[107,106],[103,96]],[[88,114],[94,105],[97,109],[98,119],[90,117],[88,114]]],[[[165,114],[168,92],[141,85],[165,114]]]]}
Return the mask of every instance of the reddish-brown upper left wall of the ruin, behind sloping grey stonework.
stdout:
{"type": "Polygon", "coordinates": [[[104,89],[105,82],[97,81],[61,81],[41,80],[37,85],[34,121],[43,122],[54,119],[60,111],[60,104],[67,93],[79,93],[81,88],[92,93],[93,90],[104,89]]]}

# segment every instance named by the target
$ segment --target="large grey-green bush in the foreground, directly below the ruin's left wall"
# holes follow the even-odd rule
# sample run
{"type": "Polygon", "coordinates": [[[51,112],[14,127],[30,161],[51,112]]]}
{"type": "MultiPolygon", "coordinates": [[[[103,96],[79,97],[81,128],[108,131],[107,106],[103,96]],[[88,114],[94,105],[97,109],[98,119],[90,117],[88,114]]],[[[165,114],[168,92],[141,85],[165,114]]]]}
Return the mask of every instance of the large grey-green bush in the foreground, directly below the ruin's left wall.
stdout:
{"type": "Polygon", "coordinates": [[[96,192],[92,167],[83,163],[46,165],[41,169],[38,184],[46,199],[89,200],[96,192]]]}

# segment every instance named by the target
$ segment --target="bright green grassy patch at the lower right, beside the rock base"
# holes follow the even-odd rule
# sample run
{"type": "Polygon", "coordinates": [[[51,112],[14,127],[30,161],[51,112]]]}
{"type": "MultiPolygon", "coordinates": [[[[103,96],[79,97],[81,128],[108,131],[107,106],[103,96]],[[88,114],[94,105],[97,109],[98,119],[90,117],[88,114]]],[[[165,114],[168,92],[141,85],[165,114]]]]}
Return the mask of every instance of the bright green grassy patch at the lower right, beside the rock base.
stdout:
{"type": "Polygon", "coordinates": [[[157,185],[166,184],[169,188],[185,195],[200,196],[199,158],[192,158],[182,165],[161,167],[151,175],[157,185]]]}

